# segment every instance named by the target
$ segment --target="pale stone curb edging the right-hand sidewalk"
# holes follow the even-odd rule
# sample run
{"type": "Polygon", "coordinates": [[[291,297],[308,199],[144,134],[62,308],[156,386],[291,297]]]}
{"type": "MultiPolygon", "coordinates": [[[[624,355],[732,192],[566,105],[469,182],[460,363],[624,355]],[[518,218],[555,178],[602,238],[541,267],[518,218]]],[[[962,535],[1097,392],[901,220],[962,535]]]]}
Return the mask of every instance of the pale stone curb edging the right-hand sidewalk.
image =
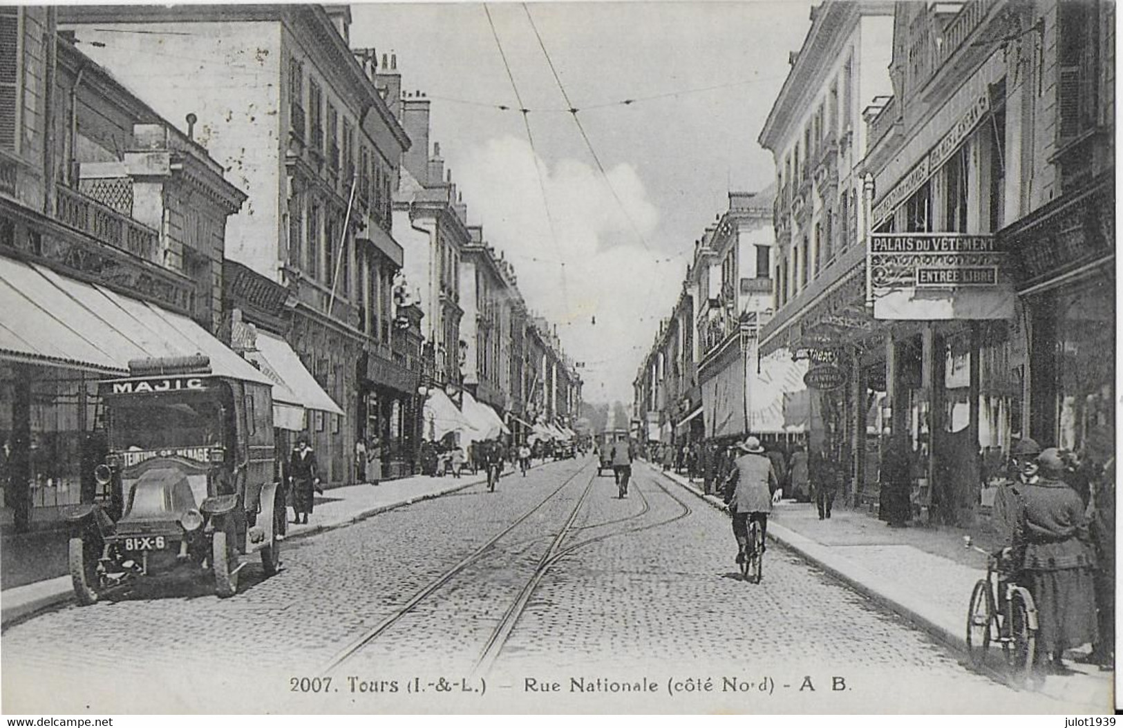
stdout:
{"type": "MultiPolygon", "coordinates": [[[[724,509],[724,503],[720,498],[704,495],[697,486],[682,480],[679,476],[672,476],[661,471],[659,471],[659,474],[664,476],[668,480],[672,480],[679,487],[690,490],[692,494],[702,500],[705,500],[714,508],[718,508],[719,510],[724,509]]],[[[910,595],[905,590],[900,589],[895,584],[866,571],[857,564],[839,563],[841,560],[832,559],[825,546],[815,543],[811,538],[802,536],[789,528],[785,528],[778,523],[769,522],[768,536],[772,541],[775,541],[782,546],[795,552],[804,561],[831,574],[839,581],[842,581],[867,599],[882,605],[889,611],[896,614],[898,617],[902,617],[906,621],[923,629],[939,642],[956,649],[957,652],[967,652],[966,637],[958,632],[951,632],[947,627],[937,623],[932,617],[925,616],[919,608],[909,606],[907,602],[910,601],[910,595]]]]}

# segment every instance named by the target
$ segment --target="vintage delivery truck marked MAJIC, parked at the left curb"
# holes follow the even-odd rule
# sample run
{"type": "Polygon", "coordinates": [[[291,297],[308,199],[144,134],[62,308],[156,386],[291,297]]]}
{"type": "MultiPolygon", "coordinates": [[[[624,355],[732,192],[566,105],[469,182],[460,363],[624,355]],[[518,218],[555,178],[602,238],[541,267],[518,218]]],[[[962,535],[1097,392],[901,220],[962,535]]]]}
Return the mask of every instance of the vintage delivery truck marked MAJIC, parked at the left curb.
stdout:
{"type": "Polygon", "coordinates": [[[156,574],[212,574],[230,597],[255,552],[276,573],[285,504],[270,386],[214,375],[193,356],[130,361],[99,395],[109,454],[94,478],[110,499],[67,515],[77,601],[156,574]]]}

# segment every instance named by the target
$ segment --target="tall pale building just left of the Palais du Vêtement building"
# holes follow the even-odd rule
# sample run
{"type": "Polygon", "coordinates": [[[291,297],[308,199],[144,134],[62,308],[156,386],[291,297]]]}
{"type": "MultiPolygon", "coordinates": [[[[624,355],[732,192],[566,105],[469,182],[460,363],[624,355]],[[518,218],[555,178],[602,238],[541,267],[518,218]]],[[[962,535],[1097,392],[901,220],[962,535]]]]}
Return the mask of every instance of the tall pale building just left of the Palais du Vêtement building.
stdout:
{"type": "Polygon", "coordinates": [[[864,479],[876,482],[876,466],[862,466],[867,426],[875,461],[879,426],[866,415],[880,413],[887,388],[884,334],[864,298],[867,187],[859,164],[876,142],[865,119],[895,104],[885,43],[893,13],[885,2],[815,8],[759,136],[778,186],[776,314],[761,331],[761,354],[816,370],[809,446],[842,463],[851,494],[864,479]]]}

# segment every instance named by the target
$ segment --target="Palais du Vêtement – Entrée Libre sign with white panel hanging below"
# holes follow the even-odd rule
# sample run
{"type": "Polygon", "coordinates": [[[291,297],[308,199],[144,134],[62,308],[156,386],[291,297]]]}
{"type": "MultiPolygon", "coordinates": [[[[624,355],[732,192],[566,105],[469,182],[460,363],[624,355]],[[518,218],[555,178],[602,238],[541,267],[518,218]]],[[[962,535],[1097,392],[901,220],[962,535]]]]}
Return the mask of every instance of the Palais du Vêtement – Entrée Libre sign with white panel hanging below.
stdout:
{"type": "Polygon", "coordinates": [[[994,236],[871,233],[867,297],[874,317],[943,321],[1010,319],[1014,289],[994,236]]]}

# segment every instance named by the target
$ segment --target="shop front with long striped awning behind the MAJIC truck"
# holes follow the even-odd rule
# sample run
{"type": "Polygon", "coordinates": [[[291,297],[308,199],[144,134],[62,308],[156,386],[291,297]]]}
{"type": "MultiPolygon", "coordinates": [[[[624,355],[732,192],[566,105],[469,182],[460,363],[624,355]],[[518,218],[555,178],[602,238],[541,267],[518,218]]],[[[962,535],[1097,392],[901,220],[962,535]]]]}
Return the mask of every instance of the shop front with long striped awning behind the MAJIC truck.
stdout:
{"type": "Polygon", "coordinates": [[[0,257],[3,518],[18,529],[108,494],[97,381],[133,359],[201,353],[216,370],[261,375],[188,316],[35,262],[0,257]]]}

